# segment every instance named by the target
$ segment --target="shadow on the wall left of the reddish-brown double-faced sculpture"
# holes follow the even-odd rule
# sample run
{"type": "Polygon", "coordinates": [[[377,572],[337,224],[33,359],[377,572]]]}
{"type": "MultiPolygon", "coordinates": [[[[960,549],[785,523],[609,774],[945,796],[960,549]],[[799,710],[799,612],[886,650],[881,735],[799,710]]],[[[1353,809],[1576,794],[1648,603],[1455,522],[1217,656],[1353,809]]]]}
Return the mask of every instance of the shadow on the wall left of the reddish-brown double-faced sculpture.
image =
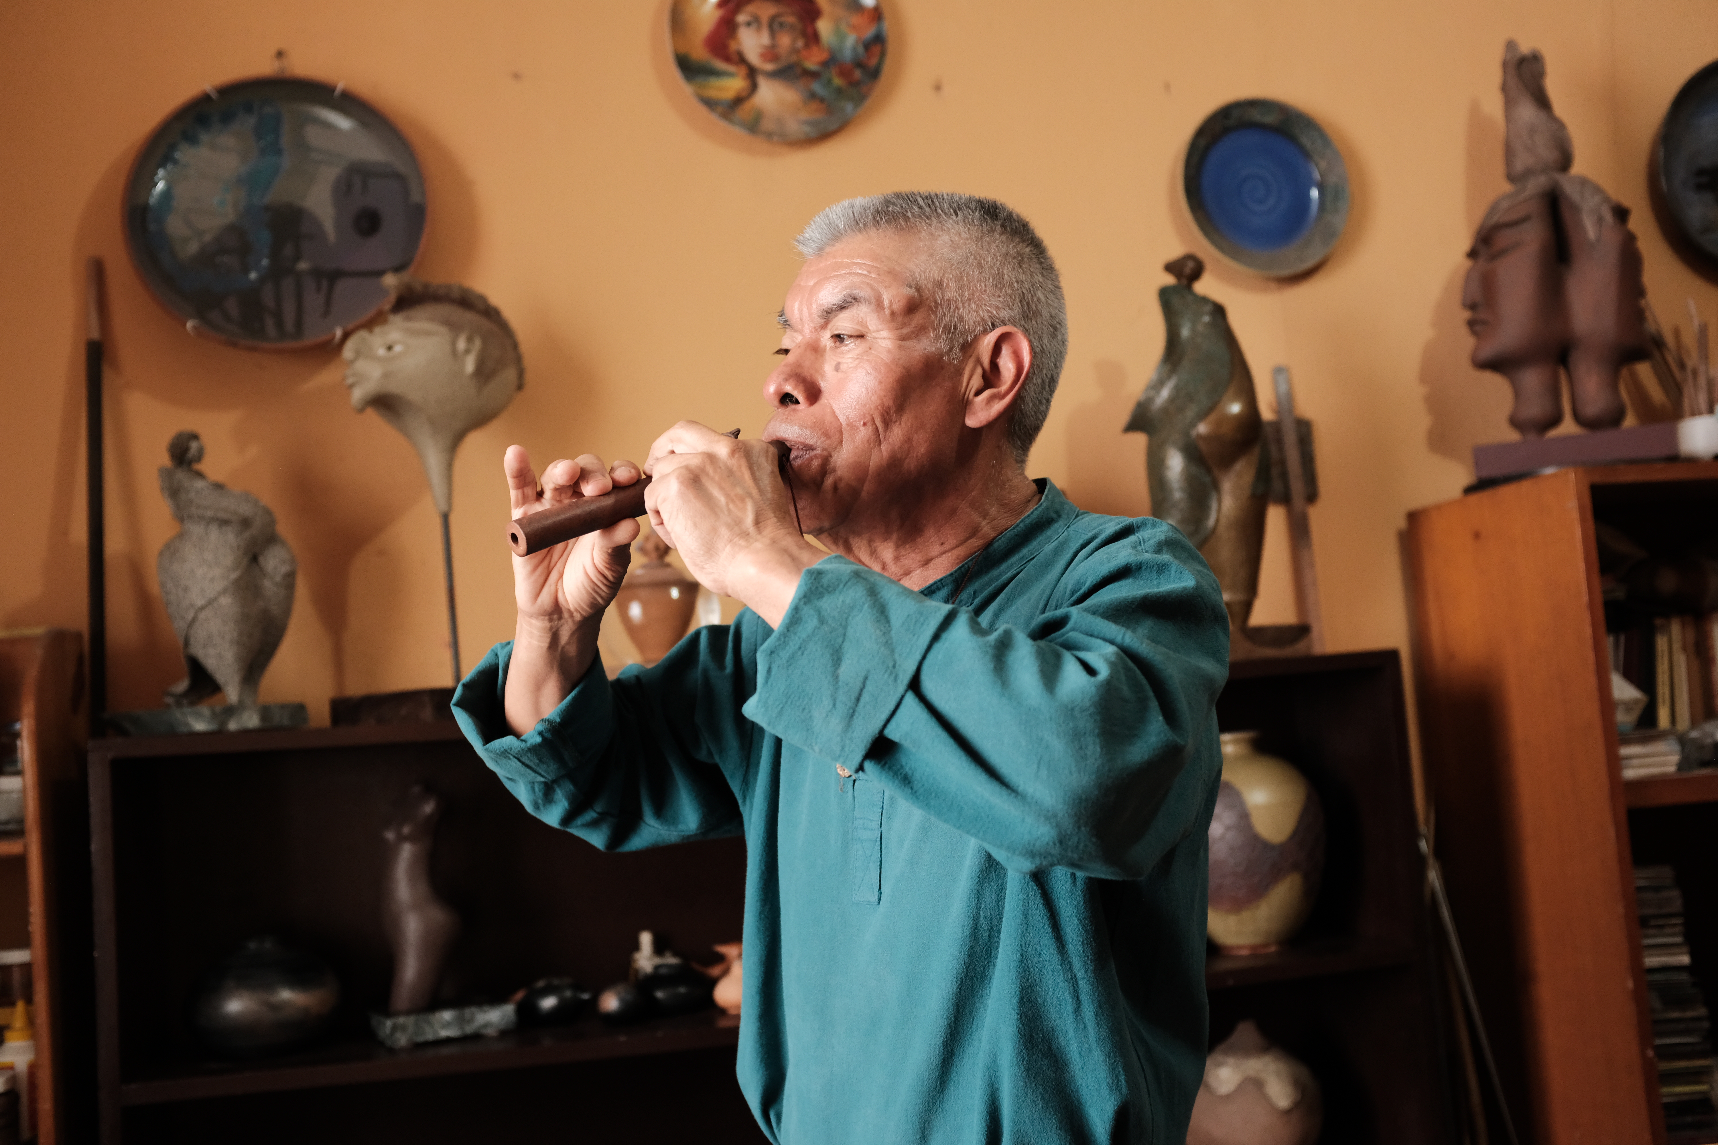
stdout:
{"type": "MultiPolygon", "coordinates": [[[[1467,223],[1477,227],[1491,201],[1508,189],[1503,177],[1503,122],[1467,108],[1467,223]]],[[[1431,338],[1419,357],[1419,385],[1426,402],[1426,448],[1474,470],[1474,446],[1508,439],[1512,397],[1508,383],[1474,369],[1474,336],[1462,309],[1467,259],[1457,263],[1438,292],[1431,312],[1431,338]]]]}

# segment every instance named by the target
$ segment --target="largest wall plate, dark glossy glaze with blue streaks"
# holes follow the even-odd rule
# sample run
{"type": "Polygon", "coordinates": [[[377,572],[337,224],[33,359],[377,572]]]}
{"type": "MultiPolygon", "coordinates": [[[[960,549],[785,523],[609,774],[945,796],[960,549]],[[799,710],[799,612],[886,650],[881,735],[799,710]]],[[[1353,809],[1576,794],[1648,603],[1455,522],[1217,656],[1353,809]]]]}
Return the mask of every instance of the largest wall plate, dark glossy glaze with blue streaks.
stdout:
{"type": "Polygon", "coordinates": [[[239,345],[309,345],[362,323],[423,232],[411,146],[357,96],[309,79],[198,96],[125,182],[137,273],[174,314],[239,345]]]}

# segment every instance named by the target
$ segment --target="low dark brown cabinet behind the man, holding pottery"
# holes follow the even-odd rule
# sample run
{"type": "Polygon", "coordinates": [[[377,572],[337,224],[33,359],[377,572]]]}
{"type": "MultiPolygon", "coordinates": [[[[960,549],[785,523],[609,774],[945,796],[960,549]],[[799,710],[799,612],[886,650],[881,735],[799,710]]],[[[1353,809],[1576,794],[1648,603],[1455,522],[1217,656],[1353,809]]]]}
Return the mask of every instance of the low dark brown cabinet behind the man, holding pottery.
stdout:
{"type": "MultiPolygon", "coordinates": [[[[1448,1142],[1397,654],[1237,664],[1218,718],[1302,767],[1330,862],[1301,939],[1211,958],[1213,1037],[1254,1018],[1307,1061],[1326,1145],[1448,1142]]],[[[105,1142],[761,1140],[715,1013],[404,1052],[364,1025],[388,982],[380,831],[414,781],[447,802],[435,879],[471,992],[606,985],[641,929],[706,956],[739,937],[739,839],[605,855],[526,814],[452,724],[98,740],[89,781],[105,1142]],[[261,932],[330,960],[342,1023],[301,1054],[211,1061],[187,999],[261,932]]]]}

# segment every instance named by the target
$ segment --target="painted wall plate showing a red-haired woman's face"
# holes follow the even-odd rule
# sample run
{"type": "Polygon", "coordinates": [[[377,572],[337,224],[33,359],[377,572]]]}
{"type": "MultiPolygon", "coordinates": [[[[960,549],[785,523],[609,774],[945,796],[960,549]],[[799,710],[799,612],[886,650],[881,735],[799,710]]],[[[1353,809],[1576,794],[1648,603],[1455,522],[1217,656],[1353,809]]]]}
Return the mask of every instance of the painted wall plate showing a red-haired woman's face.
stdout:
{"type": "Polygon", "coordinates": [[[878,0],[673,0],[680,79],[718,118],[771,142],[821,139],[883,74],[878,0]]]}

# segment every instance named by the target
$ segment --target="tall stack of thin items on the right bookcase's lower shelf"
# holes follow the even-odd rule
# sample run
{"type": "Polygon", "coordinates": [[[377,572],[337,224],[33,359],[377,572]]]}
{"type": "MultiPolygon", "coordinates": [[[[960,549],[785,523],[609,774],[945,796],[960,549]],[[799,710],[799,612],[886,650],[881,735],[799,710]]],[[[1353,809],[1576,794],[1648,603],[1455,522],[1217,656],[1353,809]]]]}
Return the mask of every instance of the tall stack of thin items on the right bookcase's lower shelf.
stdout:
{"type": "Polygon", "coordinates": [[[1641,946],[1653,1006],[1653,1051],[1658,1056],[1665,1131],[1672,1136],[1718,1133],[1711,1015],[1691,968],[1677,872],[1672,867],[1636,867],[1634,896],[1641,910],[1641,946]]]}

